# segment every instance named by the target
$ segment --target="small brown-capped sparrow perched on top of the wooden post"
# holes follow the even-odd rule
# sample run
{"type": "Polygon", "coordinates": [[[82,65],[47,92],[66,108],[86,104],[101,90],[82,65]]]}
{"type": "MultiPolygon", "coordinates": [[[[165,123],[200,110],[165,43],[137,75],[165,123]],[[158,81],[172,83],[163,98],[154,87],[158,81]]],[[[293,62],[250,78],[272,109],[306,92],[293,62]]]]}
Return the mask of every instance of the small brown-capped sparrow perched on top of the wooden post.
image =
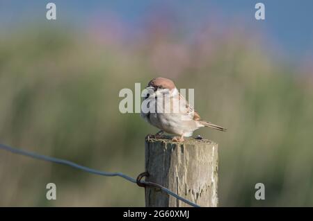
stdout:
{"type": "Polygon", "coordinates": [[[143,103],[145,102],[148,108],[143,110],[142,103],[141,116],[145,121],[160,129],[154,137],[161,138],[161,134],[167,132],[178,135],[174,136],[172,141],[183,142],[185,136],[192,136],[193,132],[200,127],[211,127],[224,132],[227,130],[211,122],[203,121],[184,96],[179,94],[172,80],[154,78],[145,89],[147,93],[144,94],[143,103]]]}

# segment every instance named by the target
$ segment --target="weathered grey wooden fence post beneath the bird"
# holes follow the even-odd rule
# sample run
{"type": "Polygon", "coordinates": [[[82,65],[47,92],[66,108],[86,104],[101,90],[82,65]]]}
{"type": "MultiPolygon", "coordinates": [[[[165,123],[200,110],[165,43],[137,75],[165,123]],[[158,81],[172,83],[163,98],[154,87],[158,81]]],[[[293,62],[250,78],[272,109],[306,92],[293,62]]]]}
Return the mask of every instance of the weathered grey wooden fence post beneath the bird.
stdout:
{"type": "MultiPolygon", "coordinates": [[[[147,181],[161,184],[200,206],[218,206],[218,144],[193,138],[145,140],[147,181]]],[[[145,188],[145,206],[189,206],[157,188],[145,188]]]]}

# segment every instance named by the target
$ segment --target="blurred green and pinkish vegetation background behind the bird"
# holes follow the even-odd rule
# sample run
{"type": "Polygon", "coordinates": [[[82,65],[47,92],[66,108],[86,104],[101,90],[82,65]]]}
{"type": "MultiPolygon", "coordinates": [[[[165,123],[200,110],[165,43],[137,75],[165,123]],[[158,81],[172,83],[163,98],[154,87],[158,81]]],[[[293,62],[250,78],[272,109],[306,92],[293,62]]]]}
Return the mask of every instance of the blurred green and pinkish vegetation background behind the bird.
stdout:
{"type": "MultiPolygon", "coordinates": [[[[228,129],[195,133],[219,143],[220,206],[313,206],[312,78],[258,43],[210,28],[188,40],[154,27],[134,39],[41,26],[1,35],[1,143],[136,177],[157,129],[120,114],[118,93],[163,76],[194,88],[200,116],[228,129]]],[[[0,206],[144,206],[143,188],[123,179],[2,150],[0,180],[0,206]]]]}

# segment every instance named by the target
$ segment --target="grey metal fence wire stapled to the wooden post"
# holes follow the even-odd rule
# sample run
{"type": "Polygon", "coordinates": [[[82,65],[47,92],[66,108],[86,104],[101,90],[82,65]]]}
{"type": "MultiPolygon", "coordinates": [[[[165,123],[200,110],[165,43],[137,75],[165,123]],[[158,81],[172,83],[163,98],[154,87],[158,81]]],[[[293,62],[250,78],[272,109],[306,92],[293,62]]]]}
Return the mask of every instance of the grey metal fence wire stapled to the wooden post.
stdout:
{"type": "MultiPolygon", "coordinates": [[[[142,173],[140,175],[141,176],[140,179],[134,179],[133,177],[129,177],[129,176],[127,176],[127,175],[125,175],[123,173],[120,173],[120,172],[109,173],[109,172],[104,172],[104,171],[101,171],[101,170],[95,170],[93,168],[88,168],[86,166],[81,166],[81,165],[79,165],[77,163],[74,163],[72,161],[68,161],[66,159],[59,159],[59,158],[56,158],[56,157],[49,157],[49,156],[45,156],[45,155],[42,155],[42,154],[37,154],[35,152],[29,152],[27,150],[21,150],[21,149],[18,149],[18,148],[13,148],[13,147],[10,147],[8,145],[1,144],[1,143],[0,143],[0,149],[6,150],[8,152],[12,152],[14,154],[20,154],[20,155],[23,155],[23,156],[26,156],[26,157],[39,159],[39,160],[42,160],[42,161],[49,161],[49,162],[52,162],[52,163],[58,163],[58,164],[71,166],[72,168],[77,168],[79,170],[83,170],[83,171],[85,171],[87,173],[92,173],[92,174],[95,174],[95,175],[102,175],[102,176],[106,176],[106,177],[122,177],[122,178],[128,180],[129,182],[132,182],[134,184],[138,184],[138,186],[152,186],[152,187],[155,187],[155,188],[160,188],[165,193],[168,193],[168,195],[172,195],[173,197],[177,198],[178,200],[182,200],[182,202],[184,202],[186,204],[189,204],[189,205],[194,206],[194,207],[200,207],[198,204],[195,204],[195,203],[193,203],[193,202],[191,202],[189,200],[186,200],[183,197],[180,197],[176,193],[173,193],[168,188],[166,188],[164,186],[161,186],[160,184],[155,184],[153,182],[147,182],[147,181],[141,180],[141,178],[143,176],[146,176],[147,174],[144,175],[142,173]]],[[[138,176],[138,178],[139,178],[139,176],[138,176]]]]}

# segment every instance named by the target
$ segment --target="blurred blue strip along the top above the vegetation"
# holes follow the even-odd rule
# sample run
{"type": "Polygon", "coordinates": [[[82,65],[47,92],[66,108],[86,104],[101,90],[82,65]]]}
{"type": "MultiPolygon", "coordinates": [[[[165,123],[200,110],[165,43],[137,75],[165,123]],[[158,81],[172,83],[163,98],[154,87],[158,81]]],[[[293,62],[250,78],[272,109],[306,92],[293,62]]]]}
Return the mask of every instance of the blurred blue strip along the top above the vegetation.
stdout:
{"type": "Polygon", "coordinates": [[[296,59],[312,55],[313,51],[313,1],[312,0],[1,0],[0,33],[8,26],[21,26],[45,19],[45,6],[54,2],[57,6],[57,22],[88,24],[96,14],[110,12],[127,26],[141,28],[143,19],[154,8],[162,7],[175,12],[186,30],[193,32],[204,21],[216,17],[223,26],[231,26],[240,19],[252,33],[262,33],[280,48],[285,57],[296,59]],[[266,6],[266,20],[254,18],[255,3],[266,6]]]}

